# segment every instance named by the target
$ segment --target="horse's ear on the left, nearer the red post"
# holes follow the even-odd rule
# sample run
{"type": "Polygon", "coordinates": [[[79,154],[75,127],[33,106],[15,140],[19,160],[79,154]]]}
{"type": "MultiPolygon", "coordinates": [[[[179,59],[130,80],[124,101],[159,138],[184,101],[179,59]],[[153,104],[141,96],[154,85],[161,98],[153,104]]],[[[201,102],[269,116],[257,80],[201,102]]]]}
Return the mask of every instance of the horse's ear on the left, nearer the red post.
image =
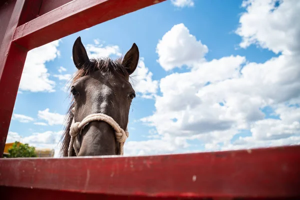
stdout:
{"type": "Polygon", "coordinates": [[[77,69],[80,69],[84,63],[89,62],[86,50],[81,42],[81,37],[77,37],[72,49],[73,61],[77,69]]]}

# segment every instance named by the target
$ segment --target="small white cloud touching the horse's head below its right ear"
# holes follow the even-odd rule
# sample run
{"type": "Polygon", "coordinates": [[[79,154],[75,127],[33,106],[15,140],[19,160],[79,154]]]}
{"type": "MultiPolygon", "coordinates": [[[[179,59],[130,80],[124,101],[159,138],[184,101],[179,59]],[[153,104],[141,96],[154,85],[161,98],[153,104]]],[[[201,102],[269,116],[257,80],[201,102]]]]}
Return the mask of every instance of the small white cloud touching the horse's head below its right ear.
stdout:
{"type": "Polygon", "coordinates": [[[145,66],[143,57],[139,59],[135,71],[131,74],[131,84],[136,93],[141,93],[141,97],[152,98],[157,92],[158,81],[152,80],[152,72],[145,66]]]}

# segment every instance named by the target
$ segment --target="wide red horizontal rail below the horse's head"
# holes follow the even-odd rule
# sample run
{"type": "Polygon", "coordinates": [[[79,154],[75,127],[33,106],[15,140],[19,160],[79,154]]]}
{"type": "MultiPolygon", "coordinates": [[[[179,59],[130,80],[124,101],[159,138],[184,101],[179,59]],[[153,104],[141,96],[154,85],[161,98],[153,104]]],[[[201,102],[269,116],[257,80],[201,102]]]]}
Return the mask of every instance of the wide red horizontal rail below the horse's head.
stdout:
{"type": "Polygon", "coordinates": [[[300,145],[136,157],[0,159],[0,187],[105,195],[300,197],[299,177],[300,145]]]}

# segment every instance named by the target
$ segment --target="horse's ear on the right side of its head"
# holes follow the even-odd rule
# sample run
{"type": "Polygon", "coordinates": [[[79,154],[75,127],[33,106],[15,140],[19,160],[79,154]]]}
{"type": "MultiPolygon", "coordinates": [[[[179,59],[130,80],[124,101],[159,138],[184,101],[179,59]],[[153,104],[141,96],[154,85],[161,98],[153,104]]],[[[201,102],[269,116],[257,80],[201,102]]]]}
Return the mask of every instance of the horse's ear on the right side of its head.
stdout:
{"type": "Polygon", "coordinates": [[[136,69],[138,58],[138,47],[135,43],[133,43],[131,48],[126,52],[122,61],[122,64],[127,69],[129,75],[136,69]]]}

